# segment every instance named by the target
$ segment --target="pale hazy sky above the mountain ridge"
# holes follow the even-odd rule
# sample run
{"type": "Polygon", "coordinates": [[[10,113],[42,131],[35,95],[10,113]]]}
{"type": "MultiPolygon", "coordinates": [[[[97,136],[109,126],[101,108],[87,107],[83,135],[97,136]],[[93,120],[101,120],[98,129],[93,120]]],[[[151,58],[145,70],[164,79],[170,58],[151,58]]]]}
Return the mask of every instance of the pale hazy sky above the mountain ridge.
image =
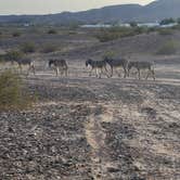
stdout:
{"type": "Polygon", "coordinates": [[[52,14],[113,4],[147,4],[151,1],[153,0],[0,0],[0,14],[52,14]]]}

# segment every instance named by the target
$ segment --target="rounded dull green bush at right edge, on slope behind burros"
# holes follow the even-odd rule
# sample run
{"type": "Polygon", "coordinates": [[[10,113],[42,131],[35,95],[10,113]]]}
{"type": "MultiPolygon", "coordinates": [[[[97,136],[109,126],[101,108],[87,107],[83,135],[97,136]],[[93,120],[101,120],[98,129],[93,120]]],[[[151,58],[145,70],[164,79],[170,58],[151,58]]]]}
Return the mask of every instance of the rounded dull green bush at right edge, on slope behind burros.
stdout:
{"type": "Polygon", "coordinates": [[[178,49],[180,49],[180,43],[177,41],[167,41],[163,44],[156,52],[159,55],[171,55],[176,54],[178,49]]]}

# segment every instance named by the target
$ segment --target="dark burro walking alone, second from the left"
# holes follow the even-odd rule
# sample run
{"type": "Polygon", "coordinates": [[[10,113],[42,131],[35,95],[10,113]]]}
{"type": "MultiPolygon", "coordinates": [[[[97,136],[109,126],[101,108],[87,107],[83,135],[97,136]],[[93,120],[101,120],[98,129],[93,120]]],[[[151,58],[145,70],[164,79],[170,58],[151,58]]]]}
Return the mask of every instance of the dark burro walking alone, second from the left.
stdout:
{"type": "Polygon", "coordinates": [[[67,76],[68,66],[65,60],[49,60],[49,67],[54,68],[56,76],[59,76],[59,72],[61,72],[61,75],[65,74],[67,76]]]}

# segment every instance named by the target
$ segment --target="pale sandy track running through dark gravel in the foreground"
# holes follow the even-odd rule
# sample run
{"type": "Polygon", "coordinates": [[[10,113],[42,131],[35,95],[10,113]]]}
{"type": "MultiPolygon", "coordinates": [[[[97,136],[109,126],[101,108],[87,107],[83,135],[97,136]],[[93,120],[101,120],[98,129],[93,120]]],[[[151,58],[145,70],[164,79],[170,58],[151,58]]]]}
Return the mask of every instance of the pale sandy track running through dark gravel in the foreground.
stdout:
{"type": "Polygon", "coordinates": [[[91,115],[86,124],[86,139],[91,146],[91,171],[94,180],[113,178],[108,168],[117,169],[115,162],[108,156],[108,147],[105,144],[106,133],[101,123],[113,123],[113,111],[103,112],[101,115],[91,115]]]}

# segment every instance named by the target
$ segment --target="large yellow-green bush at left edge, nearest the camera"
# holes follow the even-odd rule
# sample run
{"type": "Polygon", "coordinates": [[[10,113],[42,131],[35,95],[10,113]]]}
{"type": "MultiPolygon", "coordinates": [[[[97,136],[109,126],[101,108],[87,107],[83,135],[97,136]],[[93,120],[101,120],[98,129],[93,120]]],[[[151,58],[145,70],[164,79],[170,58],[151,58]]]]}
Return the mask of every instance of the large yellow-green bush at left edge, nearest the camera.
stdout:
{"type": "Polygon", "coordinates": [[[0,111],[11,111],[27,108],[36,99],[17,74],[5,70],[0,74],[0,111]]]}

